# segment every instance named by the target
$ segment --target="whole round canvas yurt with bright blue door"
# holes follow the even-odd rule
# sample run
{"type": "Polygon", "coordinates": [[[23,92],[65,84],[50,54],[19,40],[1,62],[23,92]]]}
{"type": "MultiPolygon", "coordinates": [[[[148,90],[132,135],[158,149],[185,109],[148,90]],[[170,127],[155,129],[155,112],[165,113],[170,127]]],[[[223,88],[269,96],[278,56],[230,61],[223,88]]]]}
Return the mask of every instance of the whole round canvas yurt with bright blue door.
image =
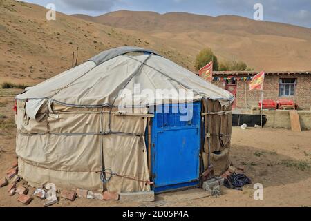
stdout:
{"type": "Polygon", "coordinates": [[[199,187],[229,166],[233,100],[152,50],[106,50],[17,95],[19,175],[117,193],[199,187]]]}

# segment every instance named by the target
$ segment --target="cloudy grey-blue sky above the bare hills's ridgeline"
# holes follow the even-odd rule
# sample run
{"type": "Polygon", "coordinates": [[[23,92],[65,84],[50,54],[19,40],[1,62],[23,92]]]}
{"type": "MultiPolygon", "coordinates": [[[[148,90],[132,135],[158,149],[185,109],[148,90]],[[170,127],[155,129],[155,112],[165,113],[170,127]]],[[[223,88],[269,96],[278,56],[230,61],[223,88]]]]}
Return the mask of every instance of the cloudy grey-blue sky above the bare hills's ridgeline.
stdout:
{"type": "Polygon", "coordinates": [[[189,12],[200,15],[241,15],[253,18],[254,4],[263,4],[263,20],[311,28],[311,0],[25,0],[66,14],[102,15],[115,10],[159,13],[189,12]]]}

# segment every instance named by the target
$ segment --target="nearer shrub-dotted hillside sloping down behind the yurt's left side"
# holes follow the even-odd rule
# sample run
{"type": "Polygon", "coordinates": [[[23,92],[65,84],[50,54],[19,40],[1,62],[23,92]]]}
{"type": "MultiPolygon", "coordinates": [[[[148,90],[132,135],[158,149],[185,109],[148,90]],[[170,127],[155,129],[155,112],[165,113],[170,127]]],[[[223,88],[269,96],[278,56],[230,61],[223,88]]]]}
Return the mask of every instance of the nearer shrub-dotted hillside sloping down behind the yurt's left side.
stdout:
{"type": "Polygon", "coordinates": [[[0,1],[0,83],[32,85],[61,73],[72,66],[77,46],[78,64],[102,50],[129,45],[152,48],[186,68],[193,68],[193,60],[156,37],[60,12],[56,21],[47,21],[46,12],[30,3],[0,1]]]}

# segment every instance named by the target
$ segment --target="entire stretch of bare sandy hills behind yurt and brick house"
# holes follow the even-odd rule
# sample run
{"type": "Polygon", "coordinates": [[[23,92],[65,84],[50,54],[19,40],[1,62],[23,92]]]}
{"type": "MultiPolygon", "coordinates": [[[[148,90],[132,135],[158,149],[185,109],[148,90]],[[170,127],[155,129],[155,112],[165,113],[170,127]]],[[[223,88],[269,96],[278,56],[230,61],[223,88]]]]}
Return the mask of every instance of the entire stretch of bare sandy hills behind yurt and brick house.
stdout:
{"type": "Polygon", "coordinates": [[[157,50],[194,70],[204,47],[218,58],[247,62],[255,70],[311,70],[311,29],[225,15],[110,12],[99,17],[65,15],[46,20],[46,8],[0,1],[0,83],[35,84],[102,50],[140,46],[157,50]],[[74,58],[75,60],[75,58],[74,58]]]}

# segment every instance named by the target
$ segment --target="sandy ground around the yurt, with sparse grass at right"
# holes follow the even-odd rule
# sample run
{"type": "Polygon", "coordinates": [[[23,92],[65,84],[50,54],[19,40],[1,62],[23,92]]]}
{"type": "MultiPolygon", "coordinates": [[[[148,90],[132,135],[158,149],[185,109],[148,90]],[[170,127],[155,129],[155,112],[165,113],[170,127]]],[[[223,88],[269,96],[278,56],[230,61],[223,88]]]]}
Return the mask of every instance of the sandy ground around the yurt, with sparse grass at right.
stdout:
{"type": "MultiPolygon", "coordinates": [[[[16,160],[12,106],[18,92],[0,89],[0,177],[16,160]]],[[[253,184],[263,184],[263,200],[254,200],[255,189],[250,184],[243,191],[222,187],[220,198],[202,189],[189,189],[156,195],[156,202],[151,203],[60,199],[53,206],[311,206],[311,131],[234,127],[231,156],[235,166],[245,165],[253,184]]],[[[7,189],[0,189],[0,206],[24,206],[17,202],[17,195],[9,196],[7,189]]],[[[42,202],[35,198],[28,206],[42,206],[42,202]]]]}

